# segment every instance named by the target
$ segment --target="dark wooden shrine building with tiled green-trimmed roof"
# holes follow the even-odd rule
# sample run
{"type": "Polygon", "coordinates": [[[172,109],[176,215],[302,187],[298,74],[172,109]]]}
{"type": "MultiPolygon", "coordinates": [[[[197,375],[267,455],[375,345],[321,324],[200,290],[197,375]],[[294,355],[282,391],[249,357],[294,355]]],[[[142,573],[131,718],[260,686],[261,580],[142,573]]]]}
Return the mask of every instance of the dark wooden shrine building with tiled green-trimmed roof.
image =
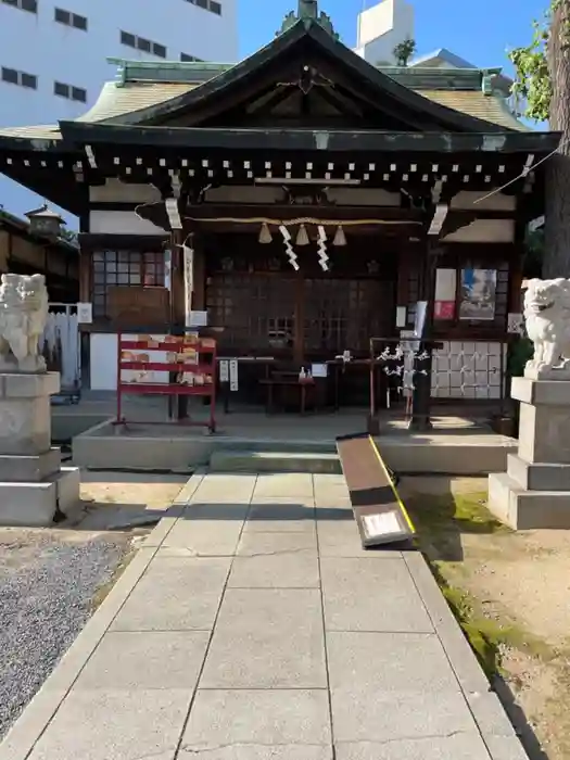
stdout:
{"type": "Polygon", "coordinates": [[[517,121],[499,68],[375,67],[316,0],[237,65],[116,63],[80,118],[0,130],[0,172],[80,219],[92,389],[115,388],[118,331],[207,313],[255,401],[262,359],[367,357],[428,302],[432,396],[498,398],[559,142],[517,121]]]}

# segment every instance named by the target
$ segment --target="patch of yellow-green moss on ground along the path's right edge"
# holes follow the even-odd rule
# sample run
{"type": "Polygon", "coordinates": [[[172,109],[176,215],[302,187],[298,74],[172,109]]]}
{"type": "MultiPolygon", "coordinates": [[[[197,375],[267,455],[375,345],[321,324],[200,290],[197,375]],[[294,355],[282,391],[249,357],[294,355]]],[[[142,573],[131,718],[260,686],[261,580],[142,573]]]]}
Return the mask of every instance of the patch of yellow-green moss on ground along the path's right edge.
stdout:
{"type": "Polygon", "coordinates": [[[546,644],[511,620],[485,616],[482,605],[460,587],[466,572],[460,552],[461,534],[509,535],[512,532],[486,509],[485,493],[413,494],[406,501],[417,528],[418,545],[430,563],[440,588],[461,626],[483,670],[491,680],[502,674],[505,647],[549,661],[546,644]]]}

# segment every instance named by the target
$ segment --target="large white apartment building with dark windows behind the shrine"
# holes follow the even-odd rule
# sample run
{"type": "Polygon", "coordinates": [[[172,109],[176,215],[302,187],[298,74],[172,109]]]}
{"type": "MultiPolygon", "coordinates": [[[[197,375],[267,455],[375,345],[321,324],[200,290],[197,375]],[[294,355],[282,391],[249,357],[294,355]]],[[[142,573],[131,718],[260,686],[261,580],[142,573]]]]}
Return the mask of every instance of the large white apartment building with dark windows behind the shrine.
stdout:
{"type": "MultiPolygon", "coordinates": [[[[0,0],[0,126],[75,118],[116,65],[106,58],[238,59],[238,0],[0,0]]],[[[0,204],[37,205],[0,178],[0,204]]]]}

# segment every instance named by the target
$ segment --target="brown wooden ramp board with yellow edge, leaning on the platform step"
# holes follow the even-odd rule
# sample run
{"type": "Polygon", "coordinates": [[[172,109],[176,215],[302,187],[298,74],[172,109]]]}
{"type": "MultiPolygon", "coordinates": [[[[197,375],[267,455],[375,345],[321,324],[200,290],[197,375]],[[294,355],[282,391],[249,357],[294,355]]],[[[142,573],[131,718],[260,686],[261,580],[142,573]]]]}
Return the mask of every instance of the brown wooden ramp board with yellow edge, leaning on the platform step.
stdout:
{"type": "Polygon", "coordinates": [[[337,451],[363,547],[411,541],[414,523],[370,435],[342,435],[337,439],[337,451]]]}

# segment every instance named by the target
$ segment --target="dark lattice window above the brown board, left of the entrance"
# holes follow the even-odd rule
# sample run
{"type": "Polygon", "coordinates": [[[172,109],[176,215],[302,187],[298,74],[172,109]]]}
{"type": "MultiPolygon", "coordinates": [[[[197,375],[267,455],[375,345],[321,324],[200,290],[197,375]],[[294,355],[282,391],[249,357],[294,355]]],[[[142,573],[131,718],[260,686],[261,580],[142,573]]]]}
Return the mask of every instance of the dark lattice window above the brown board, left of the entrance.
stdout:
{"type": "Polygon", "coordinates": [[[106,316],[114,286],[164,287],[164,251],[97,251],[92,256],[93,315],[106,316]]]}

